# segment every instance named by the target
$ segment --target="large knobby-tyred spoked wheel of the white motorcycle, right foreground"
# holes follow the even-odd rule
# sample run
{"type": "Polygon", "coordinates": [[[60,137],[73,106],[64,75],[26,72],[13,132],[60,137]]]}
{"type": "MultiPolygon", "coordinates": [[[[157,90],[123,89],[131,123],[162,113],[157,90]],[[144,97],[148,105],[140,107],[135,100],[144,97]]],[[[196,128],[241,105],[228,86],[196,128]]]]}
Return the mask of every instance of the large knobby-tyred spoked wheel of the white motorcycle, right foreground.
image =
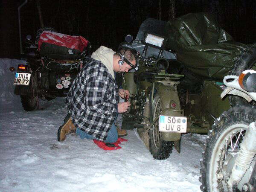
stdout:
{"type": "MultiPolygon", "coordinates": [[[[251,122],[256,121],[256,109],[245,106],[236,106],[225,111],[212,125],[212,132],[208,133],[205,149],[200,161],[203,192],[226,192],[228,191],[226,182],[233,169],[236,156],[240,150],[240,143],[251,122]]],[[[250,168],[247,169],[238,189],[242,191],[244,183],[248,183],[250,178],[255,176],[253,167],[256,166],[254,157],[250,168]]],[[[255,168],[254,168],[255,169],[255,168]]]]}

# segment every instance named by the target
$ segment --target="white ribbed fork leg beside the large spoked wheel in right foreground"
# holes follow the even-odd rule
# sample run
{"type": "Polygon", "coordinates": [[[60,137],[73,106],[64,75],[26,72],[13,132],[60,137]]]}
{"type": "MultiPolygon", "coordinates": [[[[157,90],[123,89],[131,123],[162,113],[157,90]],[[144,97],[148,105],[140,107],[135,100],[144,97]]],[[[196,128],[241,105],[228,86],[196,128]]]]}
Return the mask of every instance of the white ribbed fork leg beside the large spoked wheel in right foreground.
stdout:
{"type": "MultiPolygon", "coordinates": [[[[236,161],[232,169],[232,173],[230,175],[230,179],[227,181],[227,185],[230,191],[233,191],[234,188],[236,188],[237,184],[239,183],[241,178],[244,176],[244,173],[246,172],[246,170],[249,169],[255,154],[256,154],[256,122],[252,122],[245,133],[244,139],[241,143],[240,151],[236,157],[236,161]]],[[[246,186],[244,187],[250,188],[250,184],[246,183],[246,186]]],[[[250,191],[250,189],[248,191],[250,191]]]]}

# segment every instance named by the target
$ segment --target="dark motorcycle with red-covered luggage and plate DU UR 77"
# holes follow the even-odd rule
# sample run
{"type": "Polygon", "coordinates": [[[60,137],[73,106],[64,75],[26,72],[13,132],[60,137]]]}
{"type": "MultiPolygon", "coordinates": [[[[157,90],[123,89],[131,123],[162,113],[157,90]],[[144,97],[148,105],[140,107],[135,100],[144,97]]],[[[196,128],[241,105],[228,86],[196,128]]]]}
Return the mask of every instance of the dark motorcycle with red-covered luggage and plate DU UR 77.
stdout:
{"type": "Polygon", "coordinates": [[[51,100],[57,96],[66,96],[76,75],[86,64],[87,55],[90,54],[91,46],[87,40],[82,52],[55,45],[52,42],[40,43],[41,39],[45,39],[42,36],[44,33],[48,36],[49,34],[59,35],[59,40],[66,36],[82,38],[81,36],[65,36],[52,31],[50,28],[40,29],[35,43],[31,35],[27,35],[25,49],[21,49],[21,59],[25,60],[26,64],[19,64],[17,69],[10,67],[11,71],[15,71],[13,83],[15,94],[20,95],[23,109],[26,111],[38,108],[38,98],[51,100]],[[64,52],[64,49],[67,50],[64,52]]]}

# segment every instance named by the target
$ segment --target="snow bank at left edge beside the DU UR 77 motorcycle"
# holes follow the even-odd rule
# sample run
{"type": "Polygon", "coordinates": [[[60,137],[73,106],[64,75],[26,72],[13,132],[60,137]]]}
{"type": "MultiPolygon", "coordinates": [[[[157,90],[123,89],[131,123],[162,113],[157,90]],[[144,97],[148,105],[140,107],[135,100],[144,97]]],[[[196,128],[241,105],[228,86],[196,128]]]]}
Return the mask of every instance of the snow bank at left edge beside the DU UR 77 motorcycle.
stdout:
{"type": "Polygon", "coordinates": [[[26,61],[18,59],[0,58],[0,103],[13,102],[20,97],[14,94],[15,72],[9,70],[10,67],[17,69],[18,64],[25,64],[26,61]]]}

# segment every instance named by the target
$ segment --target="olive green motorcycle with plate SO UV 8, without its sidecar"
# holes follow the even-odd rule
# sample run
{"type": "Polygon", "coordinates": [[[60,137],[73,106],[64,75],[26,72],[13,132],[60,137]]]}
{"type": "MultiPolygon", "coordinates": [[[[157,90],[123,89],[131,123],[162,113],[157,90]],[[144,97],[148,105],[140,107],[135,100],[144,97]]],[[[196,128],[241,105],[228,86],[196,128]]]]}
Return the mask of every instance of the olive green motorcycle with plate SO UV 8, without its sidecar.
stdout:
{"type": "Polygon", "coordinates": [[[181,133],[187,132],[187,117],[177,92],[183,75],[166,72],[172,61],[177,62],[174,53],[164,50],[166,42],[164,37],[147,33],[143,42],[135,40],[119,47],[137,51],[139,68],[123,76],[122,87],[131,93],[131,106],[122,116],[122,129],[138,128],[158,160],[168,158],[176,142],[179,148],[181,133]]]}

